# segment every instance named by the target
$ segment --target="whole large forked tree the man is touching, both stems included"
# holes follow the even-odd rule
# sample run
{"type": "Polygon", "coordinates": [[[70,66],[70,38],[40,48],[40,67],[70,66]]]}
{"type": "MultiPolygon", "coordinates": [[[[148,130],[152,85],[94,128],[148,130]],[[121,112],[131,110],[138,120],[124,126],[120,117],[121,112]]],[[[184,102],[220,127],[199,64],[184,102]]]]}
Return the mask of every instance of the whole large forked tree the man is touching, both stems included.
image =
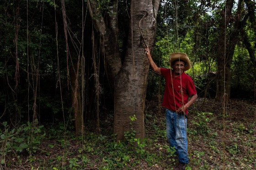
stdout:
{"type": "Polygon", "coordinates": [[[114,97],[114,133],[123,140],[124,132],[132,127],[136,137],[144,138],[144,106],[149,63],[144,54],[144,40],[152,49],[156,34],[156,15],[160,0],[131,0],[127,39],[118,38],[118,0],[111,2],[111,12],[101,9],[96,0],[89,0],[88,7],[94,26],[100,37],[101,55],[114,97]],[[141,21],[141,22],[140,22],[141,21]],[[142,34],[140,33],[140,29],[142,34]],[[119,52],[118,40],[123,40],[126,51],[119,52]]]}

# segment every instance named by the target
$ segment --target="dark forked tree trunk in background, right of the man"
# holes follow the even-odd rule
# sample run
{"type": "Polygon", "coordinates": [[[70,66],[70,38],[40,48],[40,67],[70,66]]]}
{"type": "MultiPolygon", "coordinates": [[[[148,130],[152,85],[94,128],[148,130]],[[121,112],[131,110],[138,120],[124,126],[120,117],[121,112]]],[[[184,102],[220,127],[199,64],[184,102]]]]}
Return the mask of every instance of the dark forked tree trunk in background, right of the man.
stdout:
{"type": "Polygon", "coordinates": [[[217,91],[216,91],[216,101],[221,101],[223,96],[225,96],[225,101],[230,98],[231,89],[231,64],[233,60],[233,55],[235,51],[235,45],[238,42],[238,38],[243,26],[246,23],[249,15],[242,15],[241,8],[242,0],[238,1],[237,12],[235,16],[232,16],[234,0],[227,0],[224,10],[222,10],[222,19],[219,25],[219,55],[217,59],[217,91]],[[226,9],[226,11],[225,11],[226,9]],[[229,26],[229,30],[226,28],[229,26]],[[227,40],[225,40],[225,34],[227,40]],[[226,48],[225,48],[226,47],[226,48]]]}

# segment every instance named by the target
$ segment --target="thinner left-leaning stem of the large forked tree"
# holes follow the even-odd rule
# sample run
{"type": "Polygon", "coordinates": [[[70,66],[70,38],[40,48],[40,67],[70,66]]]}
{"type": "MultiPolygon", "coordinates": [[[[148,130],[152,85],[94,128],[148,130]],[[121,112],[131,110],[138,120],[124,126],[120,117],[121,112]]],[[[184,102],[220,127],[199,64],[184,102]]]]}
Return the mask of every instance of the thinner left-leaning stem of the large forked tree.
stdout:
{"type": "Polygon", "coordinates": [[[99,33],[99,37],[101,39],[101,53],[104,60],[104,67],[107,73],[107,80],[110,85],[110,89],[114,91],[114,80],[118,71],[120,70],[122,63],[119,54],[118,47],[118,28],[117,28],[117,7],[118,0],[113,1],[113,14],[108,16],[109,22],[106,21],[105,18],[101,15],[101,11],[97,7],[97,3],[95,0],[88,1],[88,9],[91,15],[91,18],[94,20],[94,25],[99,33]],[[115,15],[114,15],[115,13],[115,15]]]}

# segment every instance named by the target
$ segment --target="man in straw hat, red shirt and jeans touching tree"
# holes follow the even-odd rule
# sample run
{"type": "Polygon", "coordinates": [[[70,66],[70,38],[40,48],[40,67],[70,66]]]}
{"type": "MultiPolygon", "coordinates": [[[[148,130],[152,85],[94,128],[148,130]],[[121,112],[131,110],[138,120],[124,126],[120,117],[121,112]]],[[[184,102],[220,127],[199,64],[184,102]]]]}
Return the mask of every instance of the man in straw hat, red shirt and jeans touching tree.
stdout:
{"type": "Polygon", "coordinates": [[[191,63],[185,53],[170,55],[171,69],[159,68],[152,60],[149,49],[145,48],[152,69],[165,78],[165,93],[162,106],[166,108],[166,136],[171,149],[175,149],[179,164],[174,170],[185,170],[189,158],[187,153],[187,108],[197,99],[193,80],[185,71],[191,63]],[[188,97],[192,96],[188,101],[188,97]]]}

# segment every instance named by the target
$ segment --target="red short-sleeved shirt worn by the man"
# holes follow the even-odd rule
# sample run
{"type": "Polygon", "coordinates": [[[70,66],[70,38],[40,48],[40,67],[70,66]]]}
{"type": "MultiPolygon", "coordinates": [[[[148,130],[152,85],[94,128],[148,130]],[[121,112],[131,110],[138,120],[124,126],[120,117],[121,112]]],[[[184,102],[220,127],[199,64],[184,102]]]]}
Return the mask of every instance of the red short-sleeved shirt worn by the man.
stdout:
{"type": "MultiPolygon", "coordinates": [[[[176,111],[182,106],[181,91],[183,91],[184,105],[188,101],[188,96],[197,94],[197,90],[193,83],[192,78],[189,75],[187,75],[184,71],[181,75],[178,75],[176,77],[174,76],[174,72],[173,72],[172,81],[171,81],[171,69],[160,68],[160,70],[161,70],[161,74],[165,78],[165,94],[164,94],[164,99],[162,103],[162,106],[164,106],[165,108],[172,111],[176,111]],[[173,84],[174,93],[172,90],[172,84],[173,84]]],[[[187,110],[185,112],[187,114],[187,110]]]]}

